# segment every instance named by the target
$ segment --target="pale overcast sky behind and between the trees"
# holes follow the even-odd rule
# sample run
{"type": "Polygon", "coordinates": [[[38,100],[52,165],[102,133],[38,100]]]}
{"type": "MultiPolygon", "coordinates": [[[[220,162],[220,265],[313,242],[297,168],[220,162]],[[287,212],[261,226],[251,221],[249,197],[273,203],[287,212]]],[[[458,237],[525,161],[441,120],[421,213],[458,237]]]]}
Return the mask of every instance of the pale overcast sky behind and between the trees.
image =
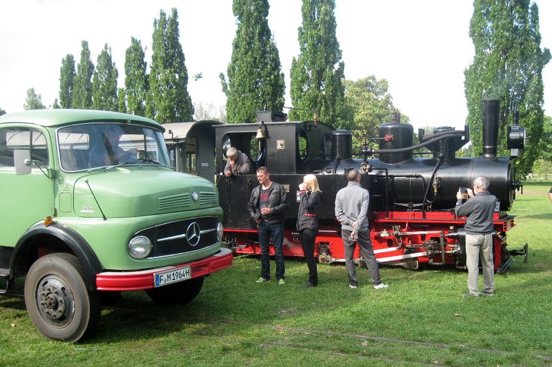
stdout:
{"type": "MultiPolygon", "coordinates": [[[[301,0],[269,0],[268,24],[286,76],[299,54],[297,28],[301,0]]],[[[336,0],[337,41],[345,77],[386,78],[395,107],[414,127],[462,128],[467,115],[464,69],[473,59],[469,0],[336,0]]],[[[538,0],[541,48],[552,49],[552,1],[538,0]]],[[[124,56],[130,37],[141,41],[151,62],[153,20],[159,10],[178,10],[180,41],[186,57],[193,103],[224,105],[219,73],[226,74],[235,36],[231,0],[2,0],[0,1],[0,107],[23,109],[34,87],[44,105],[59,94],[59,68],[66,54],[79,62],[88,41],[96,64],[108,43],[124,84],[124,56]],[[191,76],[202,73],[193,81],[191,76]]],[[[552,63],[544,68],[544,109],[552,114],[552,63]]],[[[287,112],[287,111],[284,111],[287,112]]]]}

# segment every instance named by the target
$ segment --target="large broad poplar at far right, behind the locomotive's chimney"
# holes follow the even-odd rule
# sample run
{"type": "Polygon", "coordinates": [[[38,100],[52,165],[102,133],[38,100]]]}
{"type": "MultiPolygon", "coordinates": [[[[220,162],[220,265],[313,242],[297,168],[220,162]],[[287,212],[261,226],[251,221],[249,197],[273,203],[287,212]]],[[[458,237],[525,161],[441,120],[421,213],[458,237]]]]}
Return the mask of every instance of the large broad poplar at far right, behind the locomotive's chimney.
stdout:
{"type": "Polygon", "coordinates": [[[475,0],[473,6],[470,36],[475,56],[464,71],[473,156],[482,154],[482,99],[500,99],[498,154],[509,155],[507,125],[517,109],[526,129],[526,144],[515,165],[525,175],[539,154],[544,118],[542,69],[551,58],[550,50],[540,48],[538,6],[529,0],[475,0]]]}

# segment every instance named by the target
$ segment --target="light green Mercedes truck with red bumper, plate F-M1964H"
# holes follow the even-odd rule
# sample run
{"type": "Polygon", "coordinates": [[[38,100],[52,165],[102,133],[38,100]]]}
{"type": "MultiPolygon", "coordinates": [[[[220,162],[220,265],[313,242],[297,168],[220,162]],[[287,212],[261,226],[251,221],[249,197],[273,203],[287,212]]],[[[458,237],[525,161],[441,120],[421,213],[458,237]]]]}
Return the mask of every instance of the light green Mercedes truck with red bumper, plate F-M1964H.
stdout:
{"type": "Polygon", "coordinates": [[[25,277],[49,339],[89,335],[121,291],[190,302],[232,264],[215,186],[170,167],[163,132],[117,112],[0,116],[0,293],[25,277]]]}

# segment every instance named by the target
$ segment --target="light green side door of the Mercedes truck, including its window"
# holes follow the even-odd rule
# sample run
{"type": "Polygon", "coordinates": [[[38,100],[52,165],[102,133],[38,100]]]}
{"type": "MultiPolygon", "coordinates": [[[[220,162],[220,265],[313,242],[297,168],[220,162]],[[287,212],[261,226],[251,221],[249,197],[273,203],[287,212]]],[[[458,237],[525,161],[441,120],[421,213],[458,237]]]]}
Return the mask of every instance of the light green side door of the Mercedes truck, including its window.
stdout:
{"type": "Polygon", "coordinates": [[[13,247],[32,224],[52,215],[54,192],[48,167],[52,157],[43,132],[29,128],[0,128],[0,245],[13,247]],[[17,175],[14,150],[28,149],[34,166],[17,175]]]}

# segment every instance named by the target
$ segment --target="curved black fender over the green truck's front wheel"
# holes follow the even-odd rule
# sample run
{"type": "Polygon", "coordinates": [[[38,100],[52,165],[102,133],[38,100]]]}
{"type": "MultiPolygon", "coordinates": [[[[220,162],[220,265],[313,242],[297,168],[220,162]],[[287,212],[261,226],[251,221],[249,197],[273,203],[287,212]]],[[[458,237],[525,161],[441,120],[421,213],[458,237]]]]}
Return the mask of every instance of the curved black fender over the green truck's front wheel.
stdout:
{"type": "Polygon", "coordinates": [[[74,229],[63,226],[59,223],[50,224],[48,227],[46,227],[43,223],[34,224],[34,226],[30,227],[30,229],[28,229],[28,231],[21,236],[12,253],[12,260],[10,264],[12,273],[17,273],[14,271],[16,266],[21,266],[21,262],[18,258],[24,258],[29,253],[32,238],[44,234],[58,238],[70,248],[72,253],[77,256],[79,262],[81,263],[84,275],[83,281],[84,284],[86,284],[86,288],[90,291],[95,291],[96,274],[100,273],[102,270],[101,263],[90,247],[90,244],[88,244],[88,242],[86,242],[86,240],[82,238],[79,233],[77,233],[74,229]]]}

